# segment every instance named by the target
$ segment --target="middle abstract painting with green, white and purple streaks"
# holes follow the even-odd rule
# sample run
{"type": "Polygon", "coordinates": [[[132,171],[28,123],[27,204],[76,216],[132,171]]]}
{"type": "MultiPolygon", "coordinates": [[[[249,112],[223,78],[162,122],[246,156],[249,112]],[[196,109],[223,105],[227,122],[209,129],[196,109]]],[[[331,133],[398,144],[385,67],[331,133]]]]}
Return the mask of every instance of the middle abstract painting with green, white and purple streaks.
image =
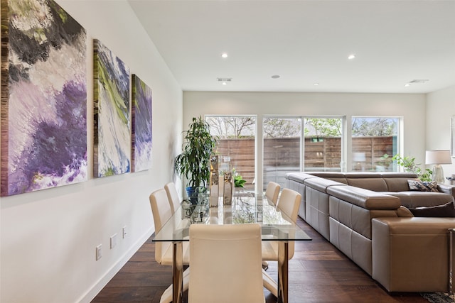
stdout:
{"type": "Polygon", "coordinates": [[[131,162],[129,68],[100,40],[93,41],[93,50],[93,175],[120,175],[131,162]]]}

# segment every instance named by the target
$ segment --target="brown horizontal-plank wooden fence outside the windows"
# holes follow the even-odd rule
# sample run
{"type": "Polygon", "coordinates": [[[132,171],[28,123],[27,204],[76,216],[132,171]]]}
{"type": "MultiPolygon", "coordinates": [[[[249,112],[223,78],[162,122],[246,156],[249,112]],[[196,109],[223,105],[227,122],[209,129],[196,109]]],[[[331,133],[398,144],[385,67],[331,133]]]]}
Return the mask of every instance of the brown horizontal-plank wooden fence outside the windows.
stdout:
{"type": "MultiPolygon", "coordinates": [[[[391,163],[395,137],[353,137],[353,170],[387,170],[391,163]],[[385,154],[389,158],[382,158],[385,154]]],[[[220,139],[218,153],[230,158],[230,169],[247,180],[254,189],[255,139],[220,139]]],[[[341,138],[304,139],[306,171],[341,171],[341,138]]],[[[284,186],[287,172],[300,170],[300,138],[264,139],[264,186],[274,181],[284,186]]]]}

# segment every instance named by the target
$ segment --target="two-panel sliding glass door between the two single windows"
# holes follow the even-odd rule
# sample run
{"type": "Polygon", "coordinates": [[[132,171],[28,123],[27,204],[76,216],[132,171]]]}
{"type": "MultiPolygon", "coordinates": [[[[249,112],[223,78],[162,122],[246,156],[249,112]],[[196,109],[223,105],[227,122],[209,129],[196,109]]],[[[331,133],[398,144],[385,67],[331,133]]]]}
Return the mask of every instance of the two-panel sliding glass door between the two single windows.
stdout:
{"type": "Polygon", "coordinates": [[[285,187],[286,174],[302,166],[304,171],[341,171],[342,126],[340,117],[265,118],[263,189],[269,181],[285,187]]]}

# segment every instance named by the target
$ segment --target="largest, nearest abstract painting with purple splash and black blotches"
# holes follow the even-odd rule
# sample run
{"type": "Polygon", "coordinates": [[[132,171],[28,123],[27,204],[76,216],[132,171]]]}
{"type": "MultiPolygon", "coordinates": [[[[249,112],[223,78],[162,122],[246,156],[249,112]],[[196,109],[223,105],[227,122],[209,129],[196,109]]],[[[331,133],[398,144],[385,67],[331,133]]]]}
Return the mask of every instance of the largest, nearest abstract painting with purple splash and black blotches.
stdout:
{"type": "Polygon", "coordinates": [[[53,0],[1,0],[1,196],[87,180],[86,36],[53,0]]]}

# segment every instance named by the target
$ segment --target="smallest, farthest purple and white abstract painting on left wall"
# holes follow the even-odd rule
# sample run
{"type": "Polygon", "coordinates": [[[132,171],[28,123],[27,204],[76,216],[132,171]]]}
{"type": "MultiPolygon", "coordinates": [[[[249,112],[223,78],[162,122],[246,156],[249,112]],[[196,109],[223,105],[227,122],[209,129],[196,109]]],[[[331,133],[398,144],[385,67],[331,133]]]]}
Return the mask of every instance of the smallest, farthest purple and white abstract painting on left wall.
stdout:
{"type": "Polygon", "coordinates": [[[132,76],[132,171],[151,168],[151,88],[132,76]]]}

